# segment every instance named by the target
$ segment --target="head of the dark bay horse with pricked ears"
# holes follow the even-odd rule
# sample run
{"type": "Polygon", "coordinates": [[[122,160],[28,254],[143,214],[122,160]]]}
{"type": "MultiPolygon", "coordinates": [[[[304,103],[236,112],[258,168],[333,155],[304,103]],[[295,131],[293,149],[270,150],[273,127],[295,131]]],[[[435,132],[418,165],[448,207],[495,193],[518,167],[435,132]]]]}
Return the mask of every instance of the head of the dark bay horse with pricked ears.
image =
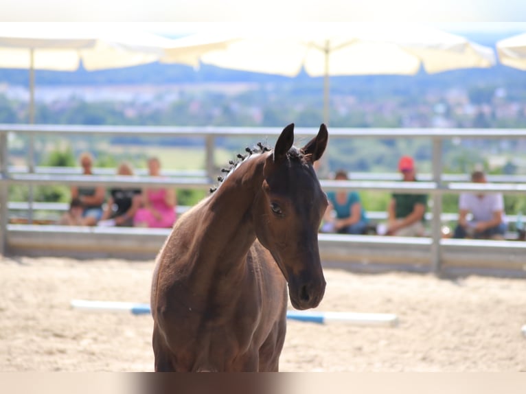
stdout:
{"type": "Polygon", "coordinates": [[[254,220],[258,240],[271,251],[288,282],[290,301],[302,310],[315,308],[325,292],[318,229],[328,202],[312,164],[327,146],[327,128],[322,124],[301,149],[293,147],[293,141],[290,124],[267,154],[254,220]]]}

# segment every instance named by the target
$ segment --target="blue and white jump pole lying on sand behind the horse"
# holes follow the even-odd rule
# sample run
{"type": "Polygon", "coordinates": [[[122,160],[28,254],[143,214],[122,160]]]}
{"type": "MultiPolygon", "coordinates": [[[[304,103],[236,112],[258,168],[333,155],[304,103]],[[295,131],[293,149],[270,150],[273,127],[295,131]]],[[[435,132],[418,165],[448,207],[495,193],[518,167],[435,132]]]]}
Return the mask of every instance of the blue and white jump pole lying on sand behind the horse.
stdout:
{"type": "MultiPolygon", "coordinates": [[[[132,314],[150,314],[147,303],[119,301],[87,301],[71,300],[71,307],[91,312],[130,312],[132,314]]],[[[287,318],[310,323],[347,323],[353,325],[398,325],[398,316],[389,313],[357,313],[357,312],[315,312],[288,310],[287,318]]]]}

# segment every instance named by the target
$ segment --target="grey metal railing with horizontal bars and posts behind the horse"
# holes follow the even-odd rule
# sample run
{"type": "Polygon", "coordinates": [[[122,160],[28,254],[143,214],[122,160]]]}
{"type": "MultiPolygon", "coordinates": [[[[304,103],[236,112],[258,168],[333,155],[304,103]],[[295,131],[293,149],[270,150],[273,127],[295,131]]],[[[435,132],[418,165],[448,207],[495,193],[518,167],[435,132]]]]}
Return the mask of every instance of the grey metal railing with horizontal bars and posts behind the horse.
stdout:
{"type": "MultiPolygon", "coordinates": [[[[312,137],[317,134],[317,128],[296,128],[297,137],[312,137]]],[[[214,164],[215,139],[217,137],[275,137],[281,128],[240,128],[240,127],[144,127],[144,126],[64,126],[64,125],[30,125],[30,124],[1,124],[0,125],[0,253],[5,251],[6,234],[8,232],[8,185],[173,185],[181,188],[207,189],[214,185],[217,175],[214,164]],[[201,137],[205,146],[205,171],[193,176],[168,176],[166,178],[148,178],[147,176],[111,176],[97,174],[81,176],[75,174],[49,174],[34,169],[34,158],[28,157],[27,169],[10,171],[8,166],[8,133],[29,135],[30,137],[45,136],[82,136],[87,139],[95,136],[151,136],[151,137],[201,137]]],[[[330,139],[339,138],[375,138],[399,139],[419,138],[429,139],[432,144],[432,172],[423,181],[400,182],[391,180],[366,180],[364,178],[352,181],[321,180],[323,189],[329,190],[376,190],[383,192],[426,193],[431,195],[431,214],[434,218],[442,215],[442,195],[459,194],[461,192],[501,192],[504,194],[524,194],[526,183],[514,182],[514,178],[501,178],[497,183],[473,184],[466,176],[455,178],[442,174],[443,142],[446,139],[525,139],[526,130],[523,129],[393,129],[393,128],[330,128],[330,139]],[[453,179],[455,178],[455,179],[453,179]],[[460,180],[460,181],[458,181],[460,180]]],[[[33,141],[34,138],[30,138],[33,141]]],[[[30,152],[33,148],[30,148],[30,152]]],[[[431,264],[435,272],[439,272],[442,259],[441,222],[433,220],[431,224],[431,264]]],[[[407,240],[410,244],[411,240],[407,240]]]]}

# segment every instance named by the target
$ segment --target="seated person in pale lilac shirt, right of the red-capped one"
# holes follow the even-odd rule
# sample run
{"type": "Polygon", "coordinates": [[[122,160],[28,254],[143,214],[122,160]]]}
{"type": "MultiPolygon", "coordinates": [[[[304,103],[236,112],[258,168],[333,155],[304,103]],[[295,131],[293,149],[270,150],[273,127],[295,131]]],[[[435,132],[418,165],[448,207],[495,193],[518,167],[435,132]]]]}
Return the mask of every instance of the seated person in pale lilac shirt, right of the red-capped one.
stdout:
{"type": "MultiPolygon", "coordinates": [[[[474,171],[473,183],[486,183],[485,174],[474,171]]],[[[504,198],[501,193],[462,193],[459,197],[459,222],[454,238],[480,238],[503,240],[507,231],[504,216],[504,198]],[[468,220],[468,213],[473,218],[468,220]]]]}

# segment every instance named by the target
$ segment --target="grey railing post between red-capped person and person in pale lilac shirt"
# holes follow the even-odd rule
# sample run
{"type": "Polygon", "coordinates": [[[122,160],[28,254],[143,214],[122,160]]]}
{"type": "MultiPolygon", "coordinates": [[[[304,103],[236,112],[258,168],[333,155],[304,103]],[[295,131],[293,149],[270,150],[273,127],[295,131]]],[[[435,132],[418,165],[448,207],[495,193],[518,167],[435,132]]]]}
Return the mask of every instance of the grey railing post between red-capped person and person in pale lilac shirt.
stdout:
{"type": "MultiPolygon", "coordinates": [[[[433,138],[433,182],[437,184],[437,189],[442,187],[442,139],[433,138]]],[[[442,239],[442,194],[433,193],[433,221],[431,222],[431,265],[433,272],[440,272],[442,263],[442,251],[440,240],[442,239]]]]}

